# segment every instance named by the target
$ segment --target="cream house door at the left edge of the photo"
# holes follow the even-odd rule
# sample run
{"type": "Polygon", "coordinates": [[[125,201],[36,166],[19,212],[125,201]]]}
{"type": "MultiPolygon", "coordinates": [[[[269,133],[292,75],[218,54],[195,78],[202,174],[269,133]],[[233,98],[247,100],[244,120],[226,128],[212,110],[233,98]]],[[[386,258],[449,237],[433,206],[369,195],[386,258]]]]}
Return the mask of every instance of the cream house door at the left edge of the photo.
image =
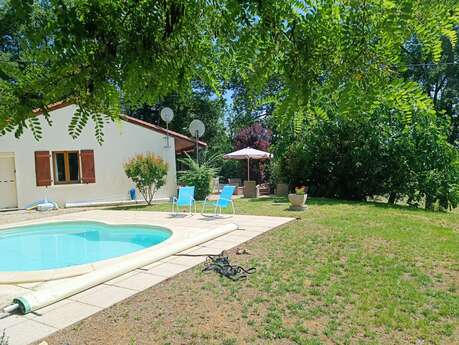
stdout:
{"type": "Polygon", "coordinates": [[[18,206],[14,156],[0,154],[0,209],[18,206]]]}

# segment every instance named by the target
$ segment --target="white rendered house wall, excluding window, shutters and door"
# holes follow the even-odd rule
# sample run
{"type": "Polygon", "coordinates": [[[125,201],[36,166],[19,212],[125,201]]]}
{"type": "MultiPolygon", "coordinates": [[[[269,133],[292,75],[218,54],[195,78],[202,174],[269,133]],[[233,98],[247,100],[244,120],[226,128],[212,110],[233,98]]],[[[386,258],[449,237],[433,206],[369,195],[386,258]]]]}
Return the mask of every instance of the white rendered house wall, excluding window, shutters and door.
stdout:
{"type": "MultiPolygon", "coordinates": [[[[16,139],[12,133],[0,136],[0,153],[14,153],[16,164],[16,188],[18,207],[23,208],[47,197],[63,206],[66,202],[129,200],[129,189],[134,187],[123,170],[123,163],[138,153],[152,152],[169,164],[167,183],[155,199],[169,198],[176,191],[176,167],[174,139],[170,148],[164,148],[163,134],[121,121],[108,123],[104,128],[104,143],[95,138],[93,123],[89,121],[77,139],[68,134],[68,125],[76,106],[68,106],[51,112],[52,126],[39,116],[43,138],[36,141],[30,130],[16,139]],[[35,151],[94,150],[96,183],[51,185],[37,187],[35,180],[35,151]]],[[[52,165],[52,159],[50,160],[52,165]]],[[[53,169],[51,166],[51,175],[53,169]]],[[[52,176],[52,178],[54,178],[52,176]]],[[[1,197],[1,196],[0,196],[1,197]]],[[[137,192],[137,198],[142,197],[137,192]]]]}

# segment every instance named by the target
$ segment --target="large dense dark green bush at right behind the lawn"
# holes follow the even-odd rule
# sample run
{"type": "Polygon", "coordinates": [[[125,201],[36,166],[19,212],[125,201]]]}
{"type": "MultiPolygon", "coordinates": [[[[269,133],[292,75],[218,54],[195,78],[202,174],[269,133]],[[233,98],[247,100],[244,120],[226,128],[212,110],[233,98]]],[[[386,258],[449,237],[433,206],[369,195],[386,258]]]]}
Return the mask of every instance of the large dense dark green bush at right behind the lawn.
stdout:
{"type": "MultiPolygon", "coordinates": [[[[427,208],[458,203],[457,150],[446,140],[447,124],[425,112],[409,125],[385,107],[371,117],[336,116],[303,126],[303,135],[278,160],[291,184],[310,185],[315,195],[364,200],[387,195],[427,208]]],[[[276,156],[275,156],[276,157],[276,156]]]]}

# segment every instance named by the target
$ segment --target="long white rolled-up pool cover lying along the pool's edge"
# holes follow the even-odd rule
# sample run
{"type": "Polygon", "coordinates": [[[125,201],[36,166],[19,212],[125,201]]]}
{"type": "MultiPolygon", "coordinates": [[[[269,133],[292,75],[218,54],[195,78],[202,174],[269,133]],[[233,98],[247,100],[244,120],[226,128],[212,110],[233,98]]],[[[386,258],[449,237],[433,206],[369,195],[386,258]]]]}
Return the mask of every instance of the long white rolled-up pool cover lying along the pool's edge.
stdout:
{"type": "Polygon", "coordinates": [[[73,296],[93,286],[105,283],[108,280],[119,277],[137,268],[147,266],[158,260],[180,253],[237,229],[238,226],[236,224],[226,224],[213,231],[187,238],[179,243],[165,245],[161,248],[157,248],[156,250],[146,251],[120,263],[112,264],[93,272],[63,281],[54,286],[44,287],[24,296],[17,297],[13,300],[13,304],[4,308],[3,311],[12,312],[19,310],[22,314],[30,313],[50,304],[59,302],[64,298],[73,296]]]}

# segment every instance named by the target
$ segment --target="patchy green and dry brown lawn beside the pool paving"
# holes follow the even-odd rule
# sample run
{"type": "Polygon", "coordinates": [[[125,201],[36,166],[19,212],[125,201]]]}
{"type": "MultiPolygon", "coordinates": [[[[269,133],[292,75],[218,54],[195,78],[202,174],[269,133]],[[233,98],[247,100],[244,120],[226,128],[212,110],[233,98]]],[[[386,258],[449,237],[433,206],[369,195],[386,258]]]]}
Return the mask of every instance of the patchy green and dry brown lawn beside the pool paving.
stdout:
{"type": "Polygon", "coordinates": [[[240,214],[297,217],[244,245],[251,255],[232,256],[257,267],[247,281],[197,267],[50,344],[133,335],[137,344],[457,344],[459,214],[327,199],[291,212],[283,202],[236,202],[240,214]]]}

